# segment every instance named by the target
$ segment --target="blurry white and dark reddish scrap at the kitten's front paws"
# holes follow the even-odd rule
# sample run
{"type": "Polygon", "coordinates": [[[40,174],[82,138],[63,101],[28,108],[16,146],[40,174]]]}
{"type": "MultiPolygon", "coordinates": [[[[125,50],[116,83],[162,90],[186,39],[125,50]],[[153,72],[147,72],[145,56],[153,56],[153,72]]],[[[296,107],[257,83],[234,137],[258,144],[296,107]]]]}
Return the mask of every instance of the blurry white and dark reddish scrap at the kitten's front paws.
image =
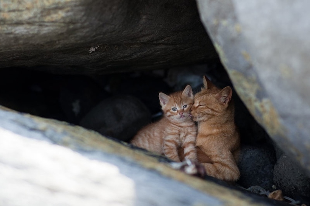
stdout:
{"type": "Polygon", "coordinates": [[[206,170],[204,166],[199,164],[196,160],[186,159],[183,162],[173,162],[170,163],[171,167],[174,169],[181,170],[186,174],[194,175],[200,178],[204,178],[206,175],[206,170]]]}

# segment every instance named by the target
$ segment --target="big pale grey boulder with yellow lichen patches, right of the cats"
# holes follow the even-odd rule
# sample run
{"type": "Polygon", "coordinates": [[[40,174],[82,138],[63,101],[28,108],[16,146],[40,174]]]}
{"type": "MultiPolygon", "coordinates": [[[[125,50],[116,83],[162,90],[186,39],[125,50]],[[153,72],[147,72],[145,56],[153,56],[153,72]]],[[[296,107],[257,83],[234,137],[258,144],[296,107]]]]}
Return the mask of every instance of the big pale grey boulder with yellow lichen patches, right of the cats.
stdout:
{"type": "Polygon", "coordinates": [[[310,175],[310,2],[197,4],[240,98],[279,147],[310,175]]]}

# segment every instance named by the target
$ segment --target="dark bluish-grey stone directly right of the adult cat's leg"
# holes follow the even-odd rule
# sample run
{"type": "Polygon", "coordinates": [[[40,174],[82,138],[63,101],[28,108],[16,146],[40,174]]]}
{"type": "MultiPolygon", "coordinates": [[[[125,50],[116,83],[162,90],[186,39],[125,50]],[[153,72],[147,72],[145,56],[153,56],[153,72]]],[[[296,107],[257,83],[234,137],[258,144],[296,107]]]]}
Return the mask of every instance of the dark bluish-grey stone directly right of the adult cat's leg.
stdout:
{"type": "Polygon", "coordinates": [[[241,174],[238,184],[244,188],[259,186],[266,190],[271,189],[275,163],[273,148],[243,145],[238,164],[241,174]]]}

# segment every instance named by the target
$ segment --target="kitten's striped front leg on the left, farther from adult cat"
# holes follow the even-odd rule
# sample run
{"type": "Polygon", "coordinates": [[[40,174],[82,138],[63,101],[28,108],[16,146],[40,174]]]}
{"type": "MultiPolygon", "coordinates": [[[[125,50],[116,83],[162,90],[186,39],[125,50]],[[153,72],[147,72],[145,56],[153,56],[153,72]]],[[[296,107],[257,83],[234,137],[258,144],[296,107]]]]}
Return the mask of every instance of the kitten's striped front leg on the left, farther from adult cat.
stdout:
{"type": "Polygon", "coordinates": [[[180,162],[178,156],[179,136],[177,134],[168,134],[163,141],[164,155],[175,162],[180,162]]]}

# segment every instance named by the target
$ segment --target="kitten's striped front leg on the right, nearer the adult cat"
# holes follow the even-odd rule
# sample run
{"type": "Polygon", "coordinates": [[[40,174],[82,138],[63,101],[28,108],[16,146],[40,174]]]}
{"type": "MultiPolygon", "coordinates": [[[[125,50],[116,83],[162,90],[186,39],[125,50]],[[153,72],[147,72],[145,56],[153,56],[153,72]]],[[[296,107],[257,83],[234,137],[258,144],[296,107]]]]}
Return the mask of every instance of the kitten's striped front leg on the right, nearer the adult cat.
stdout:
{"type": "Polygon", "coordinates": [[[196,152],[196,133],[190,133],[182,139],[183,157],[185,159],[197,160],[196,152]]]}

